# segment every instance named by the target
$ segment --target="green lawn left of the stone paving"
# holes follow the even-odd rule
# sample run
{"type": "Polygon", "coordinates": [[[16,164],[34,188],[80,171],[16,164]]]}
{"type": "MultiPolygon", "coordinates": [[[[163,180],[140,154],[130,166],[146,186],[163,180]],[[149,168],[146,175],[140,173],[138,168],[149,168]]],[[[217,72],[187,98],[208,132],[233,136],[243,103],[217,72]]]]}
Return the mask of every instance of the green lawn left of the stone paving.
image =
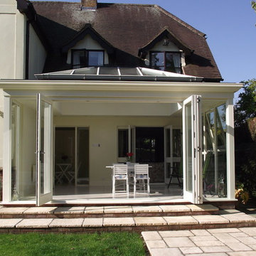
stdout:
{"type": "Polygon", "coordinates": [[[1,234],[1,256],[144,256],[137,233],[1,234]]]}

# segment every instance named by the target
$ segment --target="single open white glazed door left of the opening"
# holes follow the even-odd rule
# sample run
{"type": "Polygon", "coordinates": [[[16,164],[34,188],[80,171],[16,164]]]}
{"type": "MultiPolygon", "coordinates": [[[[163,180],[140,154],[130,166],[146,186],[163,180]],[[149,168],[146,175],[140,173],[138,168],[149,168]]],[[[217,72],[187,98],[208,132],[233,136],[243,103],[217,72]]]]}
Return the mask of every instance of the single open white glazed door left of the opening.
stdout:
{"type": "Polygon", "coordinates": [[[36,134],[37,206],[41,206],[53,198],[52,134],[52,105],[39,93],[36,134]]]}

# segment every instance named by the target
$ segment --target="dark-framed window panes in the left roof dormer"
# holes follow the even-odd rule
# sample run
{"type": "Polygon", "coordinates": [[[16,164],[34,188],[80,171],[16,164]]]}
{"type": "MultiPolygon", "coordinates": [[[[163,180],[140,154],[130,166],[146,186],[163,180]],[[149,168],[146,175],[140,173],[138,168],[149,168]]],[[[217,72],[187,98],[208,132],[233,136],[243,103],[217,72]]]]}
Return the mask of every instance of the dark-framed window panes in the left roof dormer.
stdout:
{"type": "Polygon", "coordinates": [[[98,67],[104,65],[104,50],[72,50],[73,68],[98,67]]]}

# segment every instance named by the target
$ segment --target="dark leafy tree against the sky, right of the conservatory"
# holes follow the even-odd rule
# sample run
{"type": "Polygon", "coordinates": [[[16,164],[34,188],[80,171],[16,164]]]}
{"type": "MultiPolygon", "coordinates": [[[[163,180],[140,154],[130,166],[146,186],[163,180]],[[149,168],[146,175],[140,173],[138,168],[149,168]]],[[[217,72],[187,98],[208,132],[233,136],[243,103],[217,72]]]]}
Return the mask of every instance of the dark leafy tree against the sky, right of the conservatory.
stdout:
{"type": "Polygon", "coordinates": [[[247,119],[256,117],[256,79],[244,82],[239,98],[235,105],[235,127],[240,127],[247,119]]]}

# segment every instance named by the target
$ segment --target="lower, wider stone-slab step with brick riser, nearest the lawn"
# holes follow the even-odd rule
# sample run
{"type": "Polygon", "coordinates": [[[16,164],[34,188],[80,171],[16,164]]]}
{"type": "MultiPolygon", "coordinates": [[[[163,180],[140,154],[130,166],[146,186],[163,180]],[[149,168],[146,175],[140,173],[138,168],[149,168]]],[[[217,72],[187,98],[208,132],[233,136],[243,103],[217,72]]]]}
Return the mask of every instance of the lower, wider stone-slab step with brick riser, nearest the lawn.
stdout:
{"type": "Polygon", "coordinates": [[[238,210],[221,210],[219,213],[124,218],[0,218],[0,233],[142,232],[256,227],[256,218],[238,210]]]}

